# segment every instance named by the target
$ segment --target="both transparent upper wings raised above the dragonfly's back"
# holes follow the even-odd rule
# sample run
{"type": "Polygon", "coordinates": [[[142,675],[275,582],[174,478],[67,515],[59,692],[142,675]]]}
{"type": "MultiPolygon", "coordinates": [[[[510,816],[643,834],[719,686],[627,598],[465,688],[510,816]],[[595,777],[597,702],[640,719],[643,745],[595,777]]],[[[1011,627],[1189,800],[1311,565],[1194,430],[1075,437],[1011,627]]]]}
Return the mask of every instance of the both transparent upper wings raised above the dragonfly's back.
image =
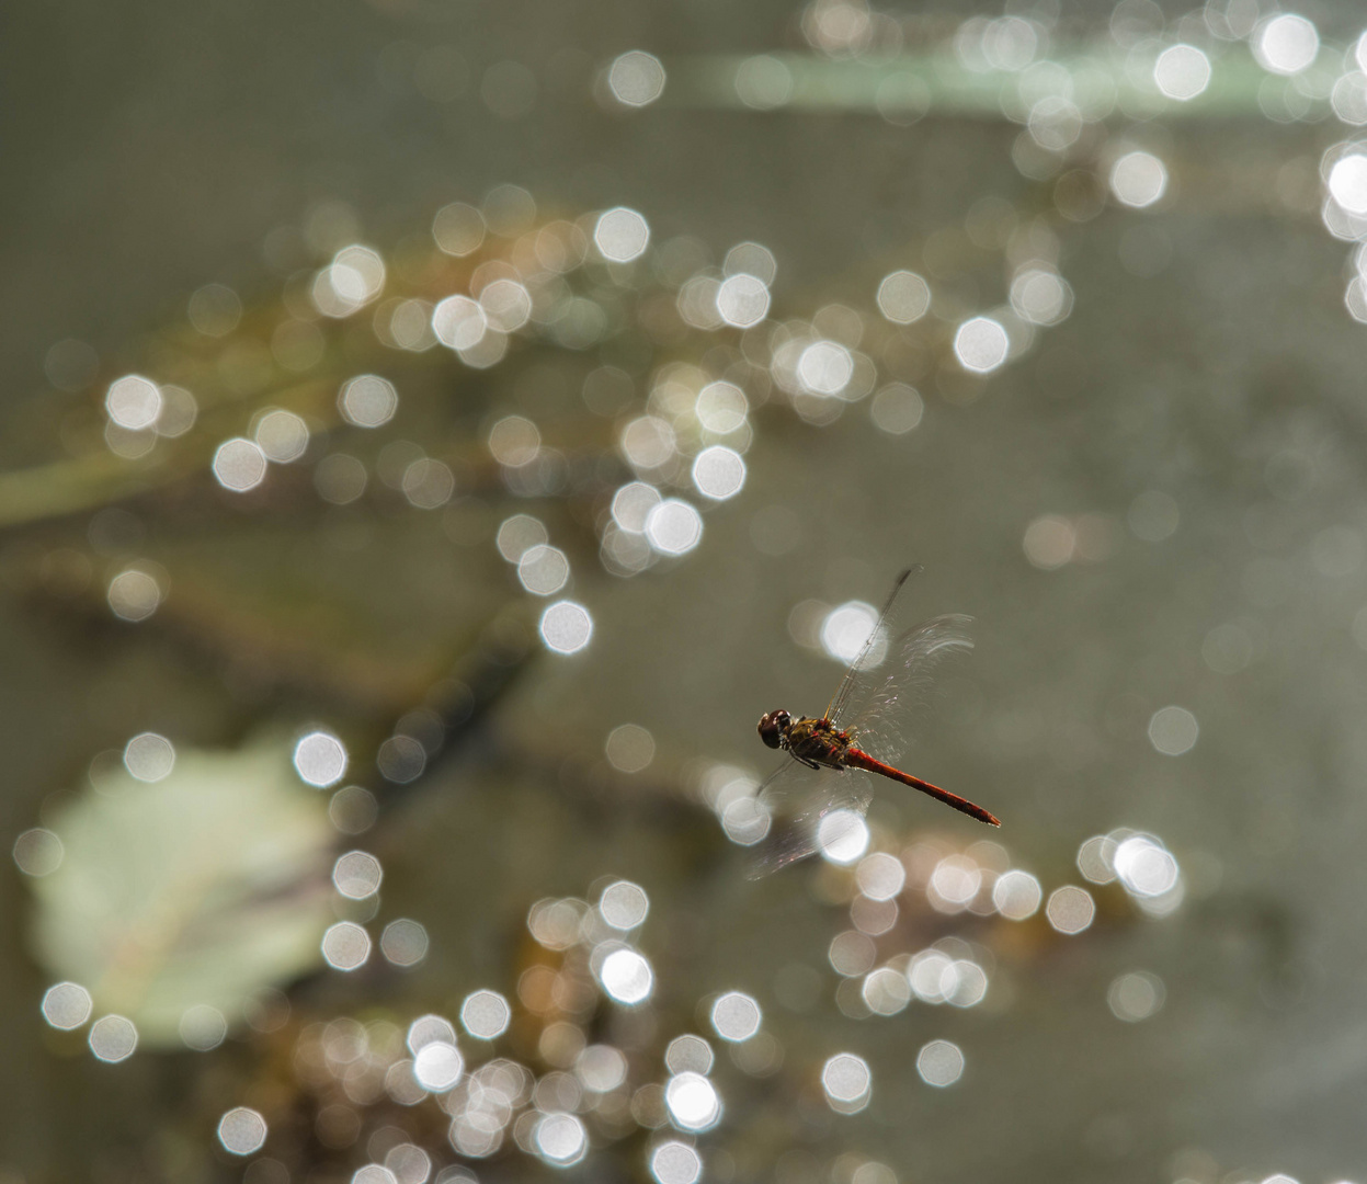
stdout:
{"type": "Polygon", "coordinates": [[[856,744],[871,756],[897,764],[924,723],[931,705],[934,674],[946,659],[973,648],[972,618],[935,617],[910,625],[912,597],[904,571],[893,585],[878,625],[831,703],[828,718],[856,733],[856,744]]]}

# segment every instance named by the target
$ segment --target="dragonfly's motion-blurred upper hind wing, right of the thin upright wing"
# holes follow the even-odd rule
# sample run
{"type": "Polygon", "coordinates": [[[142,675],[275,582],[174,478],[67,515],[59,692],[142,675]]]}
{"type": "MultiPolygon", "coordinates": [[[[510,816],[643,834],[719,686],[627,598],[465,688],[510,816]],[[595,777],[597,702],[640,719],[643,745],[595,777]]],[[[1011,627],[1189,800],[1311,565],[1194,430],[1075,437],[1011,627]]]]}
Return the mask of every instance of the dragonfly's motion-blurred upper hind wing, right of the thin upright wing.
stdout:
{"type": "Polygon", "coordinates": [[[915,722],[928,714],[936,667],[973,648],[971,622],[950,614],[890,636],[876,667],[852,671],[837,726],[853,729],[856,744],[879,760],[899,762],[915,738],[915,722]]]}

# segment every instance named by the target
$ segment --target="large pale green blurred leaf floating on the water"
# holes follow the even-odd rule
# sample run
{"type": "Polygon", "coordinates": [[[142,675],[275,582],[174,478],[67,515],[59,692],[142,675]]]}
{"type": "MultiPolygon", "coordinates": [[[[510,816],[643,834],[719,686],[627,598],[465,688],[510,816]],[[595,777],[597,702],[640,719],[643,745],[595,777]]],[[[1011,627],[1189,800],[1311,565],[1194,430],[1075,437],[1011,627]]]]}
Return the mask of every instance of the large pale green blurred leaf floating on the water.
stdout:
{"type": "Polygon", "coordinates": [[[154,785],[120,767],[53,830],[66,859],[34,882],[36,953],[145,1047],[176,1045],[190,1008],[239,1017],[319,963],[334,831],[279,740],[182,752],[154,785]]]}

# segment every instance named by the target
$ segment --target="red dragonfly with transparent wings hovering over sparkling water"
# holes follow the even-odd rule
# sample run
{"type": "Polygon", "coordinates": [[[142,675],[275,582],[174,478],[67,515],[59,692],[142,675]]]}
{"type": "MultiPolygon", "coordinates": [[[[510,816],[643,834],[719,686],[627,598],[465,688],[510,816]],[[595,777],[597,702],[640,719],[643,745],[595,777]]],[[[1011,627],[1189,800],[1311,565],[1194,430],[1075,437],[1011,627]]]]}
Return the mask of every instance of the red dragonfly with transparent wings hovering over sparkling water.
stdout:
{"type": "Polygon", "coordinates": [[[912,567],[897,577],[874,632],[823,716],[794,719],[781,708],[760,718],[760,740],[791,757],[760,788],[760,801],[771,813],[796,813],[796,826],[774,839],[761,856],[760,875],[811,855],[816,849],[816,827],[833,809],[856,813],[868,809],[872,786],[864,777],[850,777],[852,770],[909,785],[979,822],[1001,826],[980,805],[894,766],[908,742],[902,716],[923,703],[930,671],[942,659],[973,648],[965,633],[968,617],[935,617],[910,629],[901,628],[910,599],[901,592],[919,570],[912,567]],[[865,745],[886,760],[865,752],[865,745]],[[839,778],[815,788],[811,778],[794,775],[802,766],[834,770],[839,778]]]}

